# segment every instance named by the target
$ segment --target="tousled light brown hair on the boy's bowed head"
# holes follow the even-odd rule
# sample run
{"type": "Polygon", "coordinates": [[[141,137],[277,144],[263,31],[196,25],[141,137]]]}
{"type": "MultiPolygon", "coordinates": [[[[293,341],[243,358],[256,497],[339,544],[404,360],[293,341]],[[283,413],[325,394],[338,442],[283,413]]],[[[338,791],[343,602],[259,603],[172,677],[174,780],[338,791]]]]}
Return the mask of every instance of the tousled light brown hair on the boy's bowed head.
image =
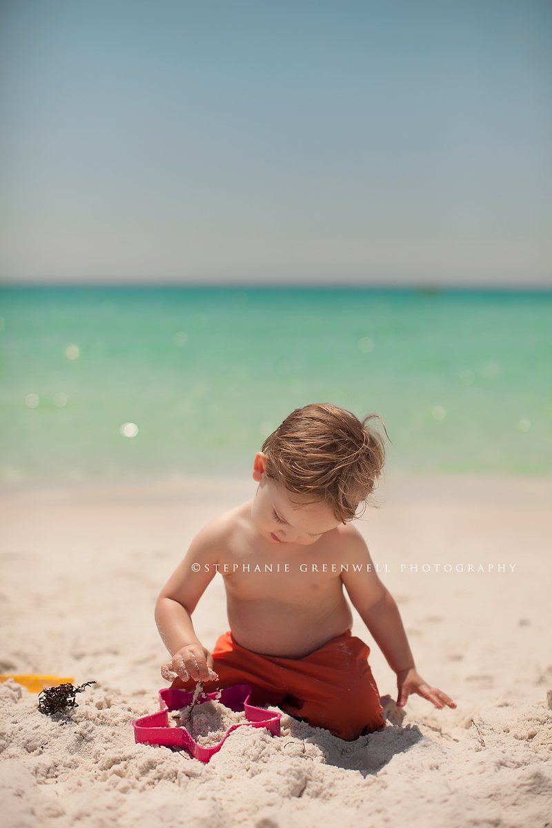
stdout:
{"type": "Polygon", "coordinates": [[[266,474],[288,491],[329,501],[346,522],[373,491],[385,463],[382,435],[344,408],[314,402],[296,408],[262,444],[266,474]]]}

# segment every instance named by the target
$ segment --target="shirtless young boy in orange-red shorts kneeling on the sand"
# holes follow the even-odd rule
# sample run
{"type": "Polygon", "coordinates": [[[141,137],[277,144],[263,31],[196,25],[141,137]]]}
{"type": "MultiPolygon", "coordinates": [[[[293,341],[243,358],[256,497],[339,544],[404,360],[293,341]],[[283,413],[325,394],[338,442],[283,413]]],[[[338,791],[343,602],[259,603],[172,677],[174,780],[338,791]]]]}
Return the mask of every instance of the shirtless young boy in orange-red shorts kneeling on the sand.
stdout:
{"type": "Polygon", "coordinates": [[[351,609],[396,672],[397,705],[418,693],[455,707],[416,672],[395,601],[351,521],[382,473],[373,417],[316,403],[297,409],[265,440],[253,464],[252,500],[199,532],[156,606],[172,658],[173,686],[252,686],[252,704],[279,705],[313,727],[353,741],[383,726],[369,649],[353,637],[351,609]],[[231,632],[209,653],[191,615],[216,572],[231,632]]]}

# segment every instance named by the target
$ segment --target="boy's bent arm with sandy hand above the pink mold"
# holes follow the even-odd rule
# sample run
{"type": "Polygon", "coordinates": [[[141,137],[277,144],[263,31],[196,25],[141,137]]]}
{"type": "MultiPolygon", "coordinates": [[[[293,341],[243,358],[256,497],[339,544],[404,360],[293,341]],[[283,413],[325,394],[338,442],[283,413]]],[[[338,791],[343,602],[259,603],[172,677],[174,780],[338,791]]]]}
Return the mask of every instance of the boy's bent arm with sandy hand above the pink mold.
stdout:
{"type": "MultiPolygon", "coordinates": [[[[191,614],[213,580],[217,532],[211,524],[194,538],[183,561],[177,566],[161,590],[156,603],[156,623],[171,660],[161,668],[164,678],[170,672],[183,681],[209,681],[216,677],[213,657],[195,634],[191,614]],[[192,570],[199,564],[199,572],[192,570]]],[[[197,567],[196,567],[197,568],[197,567]]]]}

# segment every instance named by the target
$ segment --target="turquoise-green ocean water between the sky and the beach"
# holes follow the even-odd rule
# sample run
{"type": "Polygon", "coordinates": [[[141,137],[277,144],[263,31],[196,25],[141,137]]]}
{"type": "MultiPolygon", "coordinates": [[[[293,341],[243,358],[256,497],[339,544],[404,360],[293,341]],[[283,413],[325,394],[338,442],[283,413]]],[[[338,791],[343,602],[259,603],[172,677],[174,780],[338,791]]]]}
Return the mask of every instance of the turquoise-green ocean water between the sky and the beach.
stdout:
{"type": "Polygon", "coordinates": [[[391,469],[552,470],[550,292],[4,288],[0,300],[6,482],[242,474],[308,402],[379,412],[391,469]]]}

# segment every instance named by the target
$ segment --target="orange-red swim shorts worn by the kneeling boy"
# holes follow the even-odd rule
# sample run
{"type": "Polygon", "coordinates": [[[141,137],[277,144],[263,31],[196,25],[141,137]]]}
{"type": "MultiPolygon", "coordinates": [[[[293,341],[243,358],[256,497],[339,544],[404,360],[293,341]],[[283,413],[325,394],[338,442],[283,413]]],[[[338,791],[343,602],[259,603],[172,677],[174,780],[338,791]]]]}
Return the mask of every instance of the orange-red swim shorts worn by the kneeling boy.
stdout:
{"type": "MultiPolygon", "coordinates": [[[[218,681],[205,682],[205,690],[250,684],[253,705],[276,705],[312,727],[353,742],[384,724],[369,653],[350,630],[304,658],[259,655],[241,647],[228,632],[218,638],[213,651],[218,681]]],[[[172,686],[191,690],[195,682],[177,678],[172,686]]]]}

